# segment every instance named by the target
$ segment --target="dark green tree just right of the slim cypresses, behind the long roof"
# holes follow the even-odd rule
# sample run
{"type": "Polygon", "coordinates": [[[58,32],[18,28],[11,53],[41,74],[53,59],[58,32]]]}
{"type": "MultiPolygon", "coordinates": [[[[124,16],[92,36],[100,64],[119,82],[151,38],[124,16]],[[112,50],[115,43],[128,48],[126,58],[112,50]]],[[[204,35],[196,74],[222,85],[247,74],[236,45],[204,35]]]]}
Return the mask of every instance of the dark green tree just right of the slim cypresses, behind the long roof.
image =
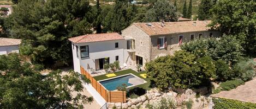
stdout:
{"type": "Polygon", "coordinates": [[[212,15],[210,9],[213,8],[215,4],[212,0],[202,0],[198,9],[198,19],[199,20],[211,20],[212,15]]]}

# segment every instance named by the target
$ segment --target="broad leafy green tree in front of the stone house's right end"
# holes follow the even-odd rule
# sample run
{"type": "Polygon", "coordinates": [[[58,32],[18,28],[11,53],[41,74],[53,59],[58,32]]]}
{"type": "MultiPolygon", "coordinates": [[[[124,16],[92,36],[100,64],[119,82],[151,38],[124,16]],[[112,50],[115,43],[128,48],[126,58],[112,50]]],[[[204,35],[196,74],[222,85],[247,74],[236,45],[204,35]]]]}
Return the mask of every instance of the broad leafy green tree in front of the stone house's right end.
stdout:
{"type": "Polygon", "coordinates": [[[232,35],[223,35],[219,40],[195,40],[183,44],[181,49],[197,57],[210,56],[215,61],[222,59],[228,65],[234,65],[243,55],[241,43],[232,35]]]}

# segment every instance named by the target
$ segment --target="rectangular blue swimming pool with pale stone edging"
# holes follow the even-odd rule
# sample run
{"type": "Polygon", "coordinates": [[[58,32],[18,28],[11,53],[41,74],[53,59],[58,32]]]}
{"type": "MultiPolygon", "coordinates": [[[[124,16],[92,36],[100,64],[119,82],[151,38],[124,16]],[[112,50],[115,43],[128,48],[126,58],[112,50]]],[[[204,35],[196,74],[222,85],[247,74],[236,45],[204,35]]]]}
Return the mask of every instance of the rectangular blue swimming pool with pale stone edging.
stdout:
{"type": "MultiPolygon", "coordinates": [[[[107,79],[103,81],[99,81],[100,84],[102,84],[106,89],[109,91],[114,91],[118,86],[122,86],[122,84],[126,84],[127,87],[133,86],[136,84],[132,84],[130,81],[133,81],[134,79],[140,79],[132,74],[124,75],[124,76],[119,76],[113,79],[107,79]],[[130,81],[129,81],[130,80],[130,81]]],[[[139,84],[144,84],[144,81],[139,84]]]]}

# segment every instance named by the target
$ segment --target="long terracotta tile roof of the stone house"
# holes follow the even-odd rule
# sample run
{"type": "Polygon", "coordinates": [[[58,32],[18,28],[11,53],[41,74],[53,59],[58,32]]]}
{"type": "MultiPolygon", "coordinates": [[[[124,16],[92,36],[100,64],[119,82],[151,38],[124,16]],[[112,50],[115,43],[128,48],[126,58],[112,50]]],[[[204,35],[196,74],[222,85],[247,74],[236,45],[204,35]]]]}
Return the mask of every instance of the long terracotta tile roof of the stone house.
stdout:
{"type": "Polygon", "coordinates": [[[151,26],[147,23],[133,23],[136,27],[143,30],[148,35],[163,35],[173,33],[186,33],[193,31],[206,31],[210,27],[206,27],[211,21],[184,21],[184,22],[165,22],[162,27],[160,22],[151,22],[151,26]]]}

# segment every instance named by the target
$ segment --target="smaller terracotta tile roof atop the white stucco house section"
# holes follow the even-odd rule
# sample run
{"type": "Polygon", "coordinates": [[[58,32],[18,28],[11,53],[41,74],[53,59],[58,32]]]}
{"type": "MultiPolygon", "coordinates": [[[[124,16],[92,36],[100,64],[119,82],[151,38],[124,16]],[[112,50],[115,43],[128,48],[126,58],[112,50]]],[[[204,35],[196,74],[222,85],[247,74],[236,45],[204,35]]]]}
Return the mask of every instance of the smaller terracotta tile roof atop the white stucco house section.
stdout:
{"type": "Polygon", "coordinates": [[[122,40],[123,37],[118,33],[102,33],[102,34],[87,34],[68,39],[73,43],[86,43],[86,42],[101,42],[111,40],[122,40]]]}

